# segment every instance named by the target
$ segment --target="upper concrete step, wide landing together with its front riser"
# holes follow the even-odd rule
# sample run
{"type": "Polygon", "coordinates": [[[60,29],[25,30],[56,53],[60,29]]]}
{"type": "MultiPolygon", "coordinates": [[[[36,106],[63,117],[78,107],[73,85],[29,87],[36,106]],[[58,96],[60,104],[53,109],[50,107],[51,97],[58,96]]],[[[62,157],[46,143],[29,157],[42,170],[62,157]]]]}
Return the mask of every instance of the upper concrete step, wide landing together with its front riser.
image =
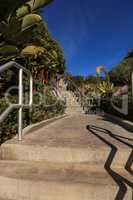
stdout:
{"type": "MultiPolygon", "coordinates": [[[[22,142],[18,142],[17,139],[6,142],[1,146],[2,159],[105,163],[111,147],[88,131],[86,128],[88,122],[96,123],[100,127],[106,125],[114,134],[130,138],[128,142],[132,142],[132,134],[103,121],[100,117],[96,120],[96,116],[93,115],[73,114],[25,135],[22,142]]],[[[132,149],[110,135],[99,131],[97,134],[117,147],[112,166],[118,165],[124,168],[132,149]]]]}

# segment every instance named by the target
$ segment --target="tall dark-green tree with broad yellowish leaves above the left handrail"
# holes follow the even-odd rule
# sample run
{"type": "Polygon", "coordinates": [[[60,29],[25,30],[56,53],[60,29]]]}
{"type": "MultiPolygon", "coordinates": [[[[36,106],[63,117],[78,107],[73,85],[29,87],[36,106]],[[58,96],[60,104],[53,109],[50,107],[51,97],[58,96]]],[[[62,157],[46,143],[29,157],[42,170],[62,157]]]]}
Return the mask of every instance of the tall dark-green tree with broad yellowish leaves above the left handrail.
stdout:
{"type": "Polygon", "coordinates": [[[38,79],[43,79],[42,70],[51,74],[57,70],[64,72],[62,50],[49,34],[47,25],[42,22],[37,10],[50,2],[51,0],[30,0],[14,4],[16,6],[13,14],[10,14],[10,20],[0,23],[0,64],[16,61],[31,70],[38,79]],[[30,51],[24,53],[28,49],[30,51]]]}

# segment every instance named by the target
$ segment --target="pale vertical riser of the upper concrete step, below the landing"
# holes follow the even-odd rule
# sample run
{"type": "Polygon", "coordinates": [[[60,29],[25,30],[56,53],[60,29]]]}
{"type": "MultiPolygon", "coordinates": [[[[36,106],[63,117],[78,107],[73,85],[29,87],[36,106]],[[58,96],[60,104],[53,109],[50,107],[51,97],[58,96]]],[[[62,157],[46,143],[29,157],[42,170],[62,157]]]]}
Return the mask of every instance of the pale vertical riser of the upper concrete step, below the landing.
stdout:
{"type": "MultiPolygon", "coordinates": [[[[2,160],[49,161],[49,162],[92,162],[105,163],[110,149],[106,146],[71,147],[54,146],[33,141],[21,143],[5,143],[1,147],[2,160]]],[[[114,156],[112,165],[125,166],[130,155],[127,149],[121,149],[114,156]]]]}

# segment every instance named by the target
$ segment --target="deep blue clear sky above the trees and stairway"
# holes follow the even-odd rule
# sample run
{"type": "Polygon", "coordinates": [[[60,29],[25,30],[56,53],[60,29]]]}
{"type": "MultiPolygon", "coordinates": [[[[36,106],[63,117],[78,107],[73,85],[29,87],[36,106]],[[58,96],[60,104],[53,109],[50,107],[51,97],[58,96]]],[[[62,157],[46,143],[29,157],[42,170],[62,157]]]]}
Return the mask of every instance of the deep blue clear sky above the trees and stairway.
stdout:
{"type": "Polygon", "coordinates": [[[109,70],[133,48],[132,0],[54,0],[43,13],[74,75],[109,70]]]}

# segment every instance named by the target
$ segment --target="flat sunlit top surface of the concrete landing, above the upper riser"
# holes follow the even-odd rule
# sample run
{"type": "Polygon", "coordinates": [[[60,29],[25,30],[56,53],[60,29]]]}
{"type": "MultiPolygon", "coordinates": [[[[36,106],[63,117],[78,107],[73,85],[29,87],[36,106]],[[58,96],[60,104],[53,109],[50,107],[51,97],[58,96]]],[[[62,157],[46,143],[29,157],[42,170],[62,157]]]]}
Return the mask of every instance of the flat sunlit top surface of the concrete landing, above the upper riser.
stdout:
{"type": "MultiPolygon", "coordinates": [[[[101,120],[102,118],[99,117],[101,120]]],[[[100,122],[100,120],[98,122],[100,122]]],[[[45,127],[42,127],[34,132],[31,132],[30,134],[27,134],[24,136],[23,141],[18,143],[17,138],[12,139],[10,141],[7,141],[4,145],[7,144],[18,144],[18,145],[24,145],[24,144],[35,144],[35,145],[43,145],[46,147],[69,147],[69,148],[108,148],[107,144],[105,144],[103,141],[98,139],[96,136],[94,136],[92,133],[88,132],[86,129],[86,125],[90,123],[90,121],[93,121],[95,124],[96,116],[86,116],[86,115],[78,115],[77,116],[69,116],[65,119],[60,119],[56,122],[53,122],[52,124],[49,124],[45,127]],[[81,121],[80,121],[81,119],[81,121]]],[[[101,124],[101,122],[99,123],[101,124]]],[[[97,124],[98,125],[98,124],[97,124]]],[[[100,125],[101,126],[101,125],[100,125]]],[[[103,122],[102,126],[107,126],[108,128],[112,129],[114,128],[114,133],[119,134],[123,137],[129,137],[133,139],[132,134],[129,135],[129,133],[125,130],[121,130],[118,133],[118,130],[116,132],[115,126],[111,125],[108,122],[103,122]],[[106,125],[107,124],[107,125],[106,125]]],[[[120,127],[119,127],[120,128],[120,127]]],[[[109,135],[102,134],[101,136],[104,136],[107,138],[110,142],[116,144],[117,147],[122,147],[121,149],[128,149],[128,147],[112,138],[110,138],[109,135]]],[[[132,141],[128,141],[129,143],[132,143],[132,141]]]]}

